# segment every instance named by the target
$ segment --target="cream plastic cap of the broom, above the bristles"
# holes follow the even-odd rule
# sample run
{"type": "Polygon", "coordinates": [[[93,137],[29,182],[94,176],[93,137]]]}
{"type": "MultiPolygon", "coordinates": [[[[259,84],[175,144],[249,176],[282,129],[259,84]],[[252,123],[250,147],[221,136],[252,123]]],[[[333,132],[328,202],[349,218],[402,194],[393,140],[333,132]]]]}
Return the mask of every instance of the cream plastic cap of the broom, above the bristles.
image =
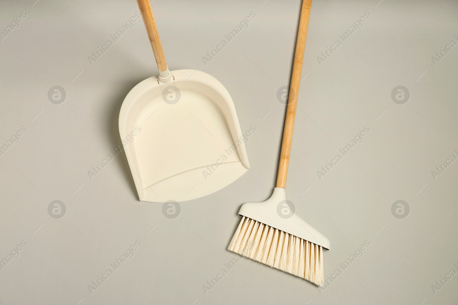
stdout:
{"type": "Polygon", "coordinates": [[[266,201],[244,203],[240,208],[239,215],[310,241],[322,246],[323,249],[330,249],[329,240],[296,214],[290,218],[280,217],[277,210],[279,204],[281,207],[283,204],[287,204],[285,189],[275,187],[272,196],[266,201]]]}

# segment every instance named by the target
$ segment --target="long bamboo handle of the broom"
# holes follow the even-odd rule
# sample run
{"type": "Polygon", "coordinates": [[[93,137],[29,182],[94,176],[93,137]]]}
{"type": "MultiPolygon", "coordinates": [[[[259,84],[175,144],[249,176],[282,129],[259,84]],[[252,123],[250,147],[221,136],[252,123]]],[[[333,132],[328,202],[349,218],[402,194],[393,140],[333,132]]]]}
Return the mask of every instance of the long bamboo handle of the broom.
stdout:
{"type": "Polygon", "coordinates": [[[296,52],[294,53],[293,73],[291,85],[289,86],[288,108],[286,110],[285,126],[283,131],[282,151],[280,164],[278,165],[277,187],[286,187],[286,176],[288,175],[289,153],[293,139],[294,117],[296,115],[297,96],[299,93],[300,74],[304,60],[305,39],[309,27],[311,0],[302,1],[300,12],[299,31],[297,32],[296,52]]]}

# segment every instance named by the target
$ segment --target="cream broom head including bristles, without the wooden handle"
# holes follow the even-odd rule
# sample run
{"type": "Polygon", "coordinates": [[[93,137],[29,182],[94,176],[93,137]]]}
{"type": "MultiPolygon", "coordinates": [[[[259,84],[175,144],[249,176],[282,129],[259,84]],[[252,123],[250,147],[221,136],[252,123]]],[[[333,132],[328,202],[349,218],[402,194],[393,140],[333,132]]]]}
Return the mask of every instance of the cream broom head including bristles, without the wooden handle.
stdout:
{"type": "Polygon", "coordinates": [[[329,240],[293,213],[284,188],[264,202],[245,203],[239,215],[229,251],[323,286],[322,249],[329,250],[329,240]]]}

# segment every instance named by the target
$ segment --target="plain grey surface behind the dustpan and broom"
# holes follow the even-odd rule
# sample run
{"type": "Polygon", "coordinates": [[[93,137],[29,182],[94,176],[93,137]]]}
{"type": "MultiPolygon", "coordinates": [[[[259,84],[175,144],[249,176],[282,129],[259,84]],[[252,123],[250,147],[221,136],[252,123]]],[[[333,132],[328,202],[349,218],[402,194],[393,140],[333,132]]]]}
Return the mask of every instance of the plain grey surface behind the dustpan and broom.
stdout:
{"type": "Polygon", "coordinates": [[[431,288],[458,271],[458,164],[431,175],[458,156],[458,47],[431,60],[458,42],[458,5],[447,0],[313,1],[287,198],[331,241],[325,277],[364,241],[371,246],[321,294],[247,259],[204,293],[234,258],[225,247],[240,205],[267,199],[275,185],[285,112],[276,94],[289,83],[300,1],[263,2],[151,3],[170,70],[215,76],[242,131],[256,127],[246,144],[251,170],[181,203],[176,219],[162,204],[138,201],[124,153],[93,180],[87,174],[121,142],[125,95],[158,71],[142,20],[92,66],[87,59],[138,11],[136,1],[1,2],[1,30],[22,11],[27,17],[0,42],[0,144],[21,126],[27,132],[0,157],[0,257],[27,246],[0,271],[0,304],[457,303],[458,276],[436,294],[431,288]],[[202,56],[251,11],[249,27],[205,65],[202,56]],[[319,65],[316,57],[366,11],[364,27],[319,65]],[[64,103],[49,102],[52,86],[65,88],[64,103]],[[409,89],[409,102],[392,101],[396,86],[409,89]],[[365,126],[364,141],[320,180],[316,171],[365,126]],[[400,199],[410,206],[404,219],[391,213],[400,199]],[[53,200],[66,205],[61,219],[47,212],[53,200]],[[87,286],[137,240],[135,256],[91,294],[87,286]]]}

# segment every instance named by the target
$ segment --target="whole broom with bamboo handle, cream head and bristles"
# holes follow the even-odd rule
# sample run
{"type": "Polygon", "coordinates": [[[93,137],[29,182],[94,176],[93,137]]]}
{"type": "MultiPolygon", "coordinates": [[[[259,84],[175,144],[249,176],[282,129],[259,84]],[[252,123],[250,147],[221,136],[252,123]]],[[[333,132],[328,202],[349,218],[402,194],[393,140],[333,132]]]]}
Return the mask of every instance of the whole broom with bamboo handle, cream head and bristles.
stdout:
{"type": "Polygon", "coordinates": [[[323,249],[329,250],[329,240],[294,214],[285,196],[310,9],[311,0],[303,0],[277,186],[268,200],[242,205],[239,215],[243,217],[227,250],[322,286],[323,249]]]}

